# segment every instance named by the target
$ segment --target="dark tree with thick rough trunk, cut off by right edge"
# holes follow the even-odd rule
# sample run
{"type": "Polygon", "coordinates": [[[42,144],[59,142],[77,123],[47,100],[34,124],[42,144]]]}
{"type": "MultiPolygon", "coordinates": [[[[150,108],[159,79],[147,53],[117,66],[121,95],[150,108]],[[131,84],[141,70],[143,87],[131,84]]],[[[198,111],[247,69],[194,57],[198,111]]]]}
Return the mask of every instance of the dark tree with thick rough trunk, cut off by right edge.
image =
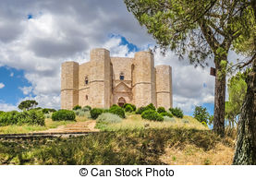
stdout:
{"type": "MultiPolygon", "coordinates": [[[[234,155],[233,164],[256,164],[256,1],[245,1],[248,8],[250,8],[250,14],[252,14],[252,20],[249,18],[243,27],[243,30],[247,32],[244,36],[245,40],[253,39],[250,49],[238,48],[239,50],[246,52],[250,56],[250,61],[243,66],[251,65],[252,70],[246,79],[247,93],[245,101],[242,105],[240,120],[238,123],[238,138],[237,146],[234,155]],[[247,26],[250,21],[253,21],[252,30],[250,26],[247,26]]],[[[246,41],[238,42],[238,46],[242,46],[246,41]]]]}

